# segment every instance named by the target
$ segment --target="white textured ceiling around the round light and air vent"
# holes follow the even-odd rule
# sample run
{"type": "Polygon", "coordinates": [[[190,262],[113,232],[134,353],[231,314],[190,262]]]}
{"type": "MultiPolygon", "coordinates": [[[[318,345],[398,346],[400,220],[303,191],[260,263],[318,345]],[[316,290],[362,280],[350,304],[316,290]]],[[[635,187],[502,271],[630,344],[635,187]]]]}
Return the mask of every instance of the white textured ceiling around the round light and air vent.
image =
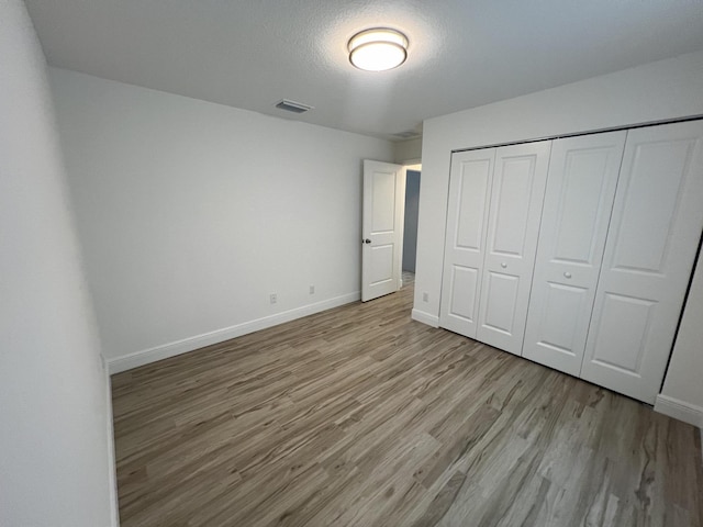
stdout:
{"type": "Polygon", "coordinates": [[[25,1],[54,66],[388,138],[703,48],[701,0],[25,1]],[[353,68],[347,41],[379,25],[409,36],[408,61],[353,68]]]}

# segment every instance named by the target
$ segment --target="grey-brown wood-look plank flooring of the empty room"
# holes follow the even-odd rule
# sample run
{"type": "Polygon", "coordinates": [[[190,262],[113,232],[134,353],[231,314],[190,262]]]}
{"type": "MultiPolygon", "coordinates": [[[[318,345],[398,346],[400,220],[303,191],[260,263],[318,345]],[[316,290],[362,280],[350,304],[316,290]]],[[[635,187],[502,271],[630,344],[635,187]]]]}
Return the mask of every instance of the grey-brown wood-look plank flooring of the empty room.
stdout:
{"type": "Polygon", "coordinates": [[[113,377],[123,527],[700,526],[699,431],[401,292],[113,377]]]}

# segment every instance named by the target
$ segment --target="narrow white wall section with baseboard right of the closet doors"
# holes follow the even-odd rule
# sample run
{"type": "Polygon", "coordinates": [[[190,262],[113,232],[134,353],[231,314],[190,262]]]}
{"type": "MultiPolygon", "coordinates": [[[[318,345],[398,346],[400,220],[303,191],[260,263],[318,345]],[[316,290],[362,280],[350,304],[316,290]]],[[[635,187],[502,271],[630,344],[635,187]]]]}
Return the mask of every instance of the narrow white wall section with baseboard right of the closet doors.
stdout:
{"type": "Polygon", "coordinates": [[[703,428],[703,258],[693,282],[673,345],[669,371],[655,407],[703,428]]]}

